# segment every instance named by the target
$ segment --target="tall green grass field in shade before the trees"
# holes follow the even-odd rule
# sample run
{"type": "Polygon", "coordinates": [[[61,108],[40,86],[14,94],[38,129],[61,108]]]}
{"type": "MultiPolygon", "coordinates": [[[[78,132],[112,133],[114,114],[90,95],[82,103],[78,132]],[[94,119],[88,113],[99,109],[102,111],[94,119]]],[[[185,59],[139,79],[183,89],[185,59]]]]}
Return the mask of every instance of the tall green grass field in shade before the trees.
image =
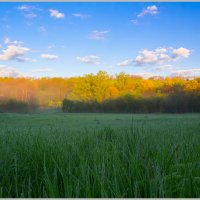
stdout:
{"type": "Polygon", "coordinates": [[[0,114],[0,197],[200,197],[200,114],[0,114]]]}

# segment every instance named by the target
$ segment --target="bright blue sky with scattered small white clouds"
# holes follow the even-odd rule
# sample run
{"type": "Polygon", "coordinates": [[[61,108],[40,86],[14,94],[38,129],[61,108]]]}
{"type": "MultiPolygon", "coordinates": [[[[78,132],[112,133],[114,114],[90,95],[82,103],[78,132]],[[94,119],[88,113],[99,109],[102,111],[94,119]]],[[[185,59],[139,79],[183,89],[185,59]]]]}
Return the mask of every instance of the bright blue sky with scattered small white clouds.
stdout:
{"type": "Polygon", "coordinates": [[[0,76],[199,76],[200,3],[0,3],[0,76]]]}

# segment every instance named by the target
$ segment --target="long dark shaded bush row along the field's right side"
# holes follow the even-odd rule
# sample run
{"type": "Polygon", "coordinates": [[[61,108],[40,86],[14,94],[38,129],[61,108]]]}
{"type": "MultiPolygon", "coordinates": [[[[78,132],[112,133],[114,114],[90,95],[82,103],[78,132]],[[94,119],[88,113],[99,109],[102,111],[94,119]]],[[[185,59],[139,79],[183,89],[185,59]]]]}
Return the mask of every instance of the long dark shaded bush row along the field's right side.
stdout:
{"type": "Polygon", "coordinates": [[[185,113],[200,112],[200,95],[177,92],[166,97],[134,98],[126,95],[102,103],[63,100],[63,112],[185,113]]]}

